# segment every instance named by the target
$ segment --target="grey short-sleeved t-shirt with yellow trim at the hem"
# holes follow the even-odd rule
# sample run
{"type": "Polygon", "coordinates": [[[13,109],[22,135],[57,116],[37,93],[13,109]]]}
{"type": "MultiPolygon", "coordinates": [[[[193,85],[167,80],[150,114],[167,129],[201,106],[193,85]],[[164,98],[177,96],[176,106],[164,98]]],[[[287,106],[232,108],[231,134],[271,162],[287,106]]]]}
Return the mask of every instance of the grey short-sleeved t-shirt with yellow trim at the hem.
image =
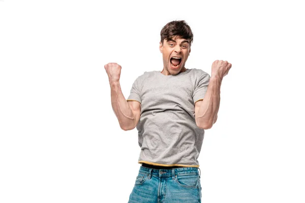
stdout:
{"type": "Polygon", "coordinates": [[[138,163],[199,167],[204,129],[196,125],[195,103],[203,99],[209,79],[200,69],[187,69],[169,76],[144,72],[134,81],[127,100],[141,104],[138,163]]]}

